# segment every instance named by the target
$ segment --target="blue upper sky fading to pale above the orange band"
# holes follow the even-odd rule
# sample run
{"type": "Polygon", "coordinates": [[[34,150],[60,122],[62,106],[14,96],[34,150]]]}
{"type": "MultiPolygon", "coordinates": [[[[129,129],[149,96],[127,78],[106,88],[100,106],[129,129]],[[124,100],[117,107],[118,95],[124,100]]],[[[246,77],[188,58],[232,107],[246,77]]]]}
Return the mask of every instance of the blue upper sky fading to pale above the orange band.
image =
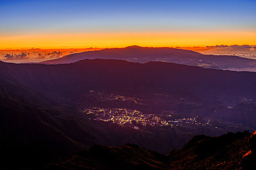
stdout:
{"type": "Polygon", "coordinates": [[[256,1],[1,1],[0,34],[256,30],[256,1]]]}

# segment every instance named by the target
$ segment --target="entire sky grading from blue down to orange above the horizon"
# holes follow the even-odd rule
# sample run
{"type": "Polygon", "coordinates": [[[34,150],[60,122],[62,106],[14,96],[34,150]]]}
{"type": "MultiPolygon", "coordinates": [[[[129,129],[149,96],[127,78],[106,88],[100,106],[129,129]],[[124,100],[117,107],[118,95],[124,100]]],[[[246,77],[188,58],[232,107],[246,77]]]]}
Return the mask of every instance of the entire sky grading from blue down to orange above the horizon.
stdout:
{"type": "Polygon", "coordinates": [[[256,1],[0,1],[0,49],[256,45],[256,1]]]}

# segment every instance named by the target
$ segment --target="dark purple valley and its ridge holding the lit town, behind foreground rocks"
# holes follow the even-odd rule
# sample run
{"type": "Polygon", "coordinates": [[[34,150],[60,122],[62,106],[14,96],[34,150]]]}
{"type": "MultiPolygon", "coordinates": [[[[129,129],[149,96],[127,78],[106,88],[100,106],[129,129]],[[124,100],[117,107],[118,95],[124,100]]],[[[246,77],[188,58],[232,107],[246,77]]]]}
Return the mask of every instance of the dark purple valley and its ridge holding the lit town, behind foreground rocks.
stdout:
{"type": "Polygon", "coordinates": [[[95,144],[167,154],[199,134],[256,129],[254,72],[101,59],[0,62],[0,72],[1,169],[40,167],[95,144]]]}

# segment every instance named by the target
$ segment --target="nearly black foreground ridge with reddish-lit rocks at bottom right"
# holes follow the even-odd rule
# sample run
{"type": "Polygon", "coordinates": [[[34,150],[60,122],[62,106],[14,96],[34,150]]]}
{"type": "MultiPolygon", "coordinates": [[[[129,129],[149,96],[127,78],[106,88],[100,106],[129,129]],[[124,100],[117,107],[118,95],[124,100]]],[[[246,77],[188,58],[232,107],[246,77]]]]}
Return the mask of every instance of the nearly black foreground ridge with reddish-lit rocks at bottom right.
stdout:
{"type": "Polygon", "coordinates": [[[122,147],[93,145],[42,169],[255,169],[255,137],[248,131],[194,136],[168,155],[130,143],[122,147]]]}

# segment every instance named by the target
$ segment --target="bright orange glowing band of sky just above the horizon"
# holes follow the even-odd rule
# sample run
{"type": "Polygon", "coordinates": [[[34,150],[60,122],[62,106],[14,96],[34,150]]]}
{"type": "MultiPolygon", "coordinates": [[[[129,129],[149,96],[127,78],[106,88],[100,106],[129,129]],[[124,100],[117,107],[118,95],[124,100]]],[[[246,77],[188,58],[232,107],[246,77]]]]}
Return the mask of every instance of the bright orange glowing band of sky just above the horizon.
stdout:
{"type": "Polygon", "coordinates": [[[206,45],[256,45],[256,32],[128,32],[90,34],[27,34],[0,36],[0,49],[84,47],[192,47],[206,45]]]}

